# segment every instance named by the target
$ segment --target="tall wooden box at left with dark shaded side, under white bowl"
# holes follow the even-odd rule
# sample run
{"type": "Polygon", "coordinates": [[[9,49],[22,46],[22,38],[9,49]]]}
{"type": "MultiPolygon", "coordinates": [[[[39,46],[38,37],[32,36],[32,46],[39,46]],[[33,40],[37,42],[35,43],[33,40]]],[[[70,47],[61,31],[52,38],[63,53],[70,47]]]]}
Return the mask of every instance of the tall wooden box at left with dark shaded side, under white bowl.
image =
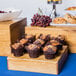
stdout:
{"type": "Polygon", "coordinates": [[[26,18],[15,21],[0,22],[0,56],[11,54],[10,45],[25,32],[26,18]]]}

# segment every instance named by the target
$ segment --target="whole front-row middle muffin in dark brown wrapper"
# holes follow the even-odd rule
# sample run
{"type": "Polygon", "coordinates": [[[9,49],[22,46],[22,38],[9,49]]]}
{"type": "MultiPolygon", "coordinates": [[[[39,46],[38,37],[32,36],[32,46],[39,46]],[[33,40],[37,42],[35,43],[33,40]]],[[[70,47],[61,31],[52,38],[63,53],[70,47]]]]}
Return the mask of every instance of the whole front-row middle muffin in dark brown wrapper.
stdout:
{"type": "Polygon", "coordinates": [[[25,47],[31,58],[37,58],[40,55],[40,47],[35,44],[30,44],[25,47]]]}

